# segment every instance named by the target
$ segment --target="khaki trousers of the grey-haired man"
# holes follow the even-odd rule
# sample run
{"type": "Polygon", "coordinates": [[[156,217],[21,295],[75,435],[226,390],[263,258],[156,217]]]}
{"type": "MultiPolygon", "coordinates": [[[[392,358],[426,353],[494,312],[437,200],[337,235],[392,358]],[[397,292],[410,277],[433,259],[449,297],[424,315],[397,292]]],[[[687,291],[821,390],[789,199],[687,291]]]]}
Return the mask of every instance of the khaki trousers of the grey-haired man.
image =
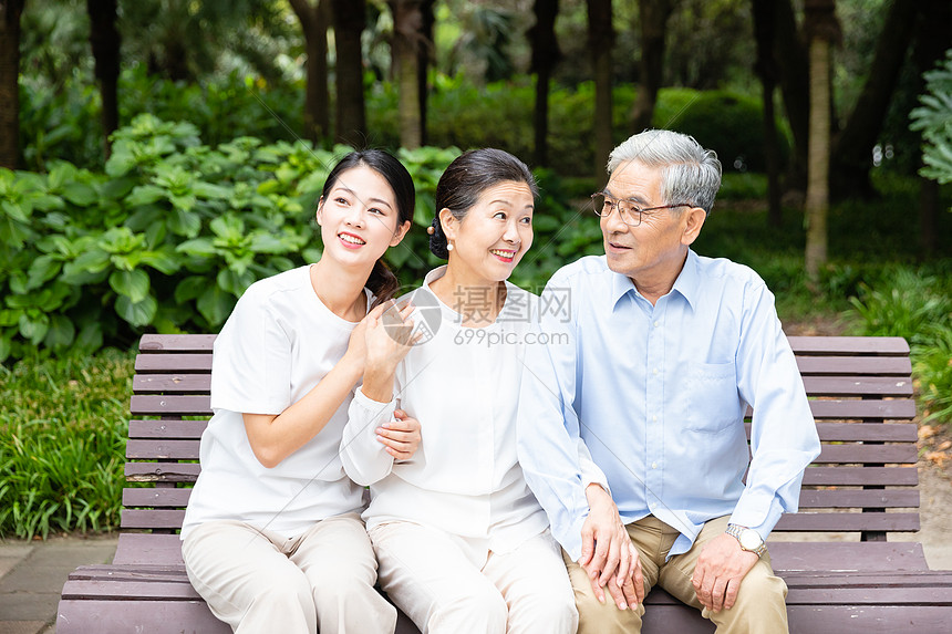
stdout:
{"type": "MultiPolygon", "coordinates": [[[[628,534],[641,555],[645,593],[654,585],[660,585],[687,605],[701,610],[702,616],[717,625],[717,634],[788,632],[787,607],[784,603],[787,585],[783,579],[774,574],[768,553],[764,553],[760,561],[754,564],[744,578],[737,593],[737,601],[731,610],[711,612],[697,601],[694,586],[691,584],[691,575],[694,573],[694,567],[697,565],[697,558],[705,543],[726,530],[728,520],[729,518],[723,517],[705,523],[691,550],[672,557],[668,562],[664,560],[679,536],[676,529],[653,516],[628,524],[625,527],[628,534]]],[[[565,552],[562,557],[576,593],[579,634],[641,632],[644,605],[639,605],[638,610],[619,610],[608,591],[606,591],[606,603],[599,603],[584,569],[569,560],[565,552]]]]}

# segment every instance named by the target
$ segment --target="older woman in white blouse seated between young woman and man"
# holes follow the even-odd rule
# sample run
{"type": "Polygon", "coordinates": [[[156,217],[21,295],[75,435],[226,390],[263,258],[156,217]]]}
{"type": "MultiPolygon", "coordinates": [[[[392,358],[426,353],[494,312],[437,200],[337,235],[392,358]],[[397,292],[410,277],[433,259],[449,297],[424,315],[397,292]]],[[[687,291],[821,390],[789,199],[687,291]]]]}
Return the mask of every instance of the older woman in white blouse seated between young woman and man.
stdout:
{"type": "Polygon", "coordinates": [[[576,631],[566,567],[516,461],[536,298],[506,280],[532,243],[535,196],[529,169],[505,152],[446,168],[431,250],[448,264],[412,294],[426,336],[402,361],[369,343],[350,406],[341,457],[371,487],[363,517],[380,583],[424,633],[576,631]],[[380,437],[397,406],[422,426],[408,459],[380,437]]]}

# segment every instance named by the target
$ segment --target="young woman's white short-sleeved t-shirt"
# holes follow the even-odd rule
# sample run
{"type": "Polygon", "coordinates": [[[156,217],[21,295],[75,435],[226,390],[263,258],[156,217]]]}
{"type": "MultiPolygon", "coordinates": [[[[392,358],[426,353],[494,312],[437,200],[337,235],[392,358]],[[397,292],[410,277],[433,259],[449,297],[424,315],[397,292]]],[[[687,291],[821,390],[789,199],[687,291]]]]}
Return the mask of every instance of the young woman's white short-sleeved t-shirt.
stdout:
{"type": "Polygon", "coordinates": [[[355,325],[321,303],[308,266],[248,288],[215,340],[214,416],[201,435],[201,474],[183,539],[210,520],[238,520],[291,538],[363,507],[363,489],[346,477],[338,453],[351,396],[317,436],[271,469],[251,451],[241,416],[280,414],[301,399],[344,355],[355,325]]]}

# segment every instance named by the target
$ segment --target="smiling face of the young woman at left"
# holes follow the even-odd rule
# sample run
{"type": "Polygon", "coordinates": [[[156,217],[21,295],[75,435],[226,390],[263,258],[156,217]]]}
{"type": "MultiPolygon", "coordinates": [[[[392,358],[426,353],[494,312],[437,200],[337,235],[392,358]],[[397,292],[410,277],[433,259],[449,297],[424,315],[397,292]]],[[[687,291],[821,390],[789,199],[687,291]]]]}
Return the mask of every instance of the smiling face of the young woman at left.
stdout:
{"type": "Polygon", "coordinates": [[[318,205],[324,253],[346,263],[376,262],[403,239],[396,198],[386,179],[359,165],[342,172],[318,205]]]}

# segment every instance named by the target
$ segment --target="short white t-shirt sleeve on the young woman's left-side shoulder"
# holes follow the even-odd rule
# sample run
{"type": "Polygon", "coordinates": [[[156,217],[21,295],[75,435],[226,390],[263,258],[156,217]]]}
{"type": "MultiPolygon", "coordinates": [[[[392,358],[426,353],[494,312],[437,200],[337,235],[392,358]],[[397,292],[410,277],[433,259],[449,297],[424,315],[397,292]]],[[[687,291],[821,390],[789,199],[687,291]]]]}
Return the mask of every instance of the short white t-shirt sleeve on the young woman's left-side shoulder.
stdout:
{"type": "Polygon", "coordinates": [[[211,408],[280,414],[291,405],[291,339],[260,288],[238,300],[211,355],[211,408]]]}

